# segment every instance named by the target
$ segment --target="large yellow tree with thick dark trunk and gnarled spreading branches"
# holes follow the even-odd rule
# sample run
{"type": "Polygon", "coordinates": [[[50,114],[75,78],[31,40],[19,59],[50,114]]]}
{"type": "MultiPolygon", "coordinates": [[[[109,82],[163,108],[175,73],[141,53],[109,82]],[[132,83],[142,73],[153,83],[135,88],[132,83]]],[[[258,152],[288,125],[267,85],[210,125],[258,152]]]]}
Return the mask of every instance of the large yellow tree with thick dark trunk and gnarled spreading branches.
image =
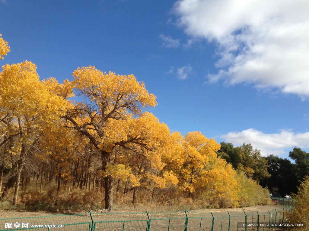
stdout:
{"type": "MultiPolygon", "coordinates": [[[[128,148],[128,145],[135,144],[151,150],[151,143],[145,141],[146,136],[141,132],[148,133],[140,129],[141,125],[134,126],[136,122],[146,120],[134,118],[142,113],[143,107],[157,104],[144,83],[138,82],[134,75],[105,73],[92,66],[76,69],[73,76],[74,90],[83,101],[76,103],[63,118],[67,128],[87,137],[100,151],[103,172],[114,159],[116,147],[128,148]],[[81,121],[81,118],[85,120],[81,121]],[[121,133],[117,128],[124,128],[130,134],[121,133]],[[136,128],[140,130],[134,130],[136,128]]],[[[111,175],[104,176],[107,209],[112,209],[113,180],[111,175]]]]}

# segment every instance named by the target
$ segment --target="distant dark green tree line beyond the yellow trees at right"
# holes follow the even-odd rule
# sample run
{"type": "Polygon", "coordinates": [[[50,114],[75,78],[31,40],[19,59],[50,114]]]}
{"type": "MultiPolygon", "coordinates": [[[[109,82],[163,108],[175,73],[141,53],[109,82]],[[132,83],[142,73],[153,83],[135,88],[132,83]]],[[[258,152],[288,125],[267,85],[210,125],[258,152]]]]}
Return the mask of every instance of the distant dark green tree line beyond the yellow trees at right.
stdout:
{"type": "Polygon", "coordinates": [[[309,153],[295,147],[289,152],[292,163],[287,158],[270,155],[263,157],[260,150],[251,144],[234,147],[231,143],[221,142],[217,155],[231,163],[236,171],[256,180],[270,192],[285,196],[297,193],[297,187],[305,176],[309,175],[309,153]]]}

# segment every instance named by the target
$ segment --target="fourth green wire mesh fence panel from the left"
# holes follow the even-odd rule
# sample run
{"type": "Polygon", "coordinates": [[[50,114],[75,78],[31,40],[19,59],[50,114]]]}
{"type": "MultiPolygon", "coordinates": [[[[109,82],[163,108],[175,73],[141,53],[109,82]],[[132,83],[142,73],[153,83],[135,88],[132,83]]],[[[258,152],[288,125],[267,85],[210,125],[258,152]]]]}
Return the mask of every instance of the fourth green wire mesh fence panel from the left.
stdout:
{"type": "Polygon", "coordinates": [[[211,231],[213,216],[211,213],[188,211],[187,231],[211,231]]]}

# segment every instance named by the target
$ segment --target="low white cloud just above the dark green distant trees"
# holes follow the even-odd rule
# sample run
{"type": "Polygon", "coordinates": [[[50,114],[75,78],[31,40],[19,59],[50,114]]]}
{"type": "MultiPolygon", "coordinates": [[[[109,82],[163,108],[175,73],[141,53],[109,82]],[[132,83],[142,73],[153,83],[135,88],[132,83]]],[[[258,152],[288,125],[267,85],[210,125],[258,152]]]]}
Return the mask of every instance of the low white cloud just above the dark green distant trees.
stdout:
{"type": "Polygon", "coordinates": [[[253,148],[261,150],[263,156],[275,154],[282,156],[291,151],[295,146],[309,148],[309,132],[294,133],[289,130],[282,130],[280,133],[263,133],[249,128],[242,132],[229,132],[221,136],[226,142],[234,145],[243,143],[252,144],[253,148]]]}

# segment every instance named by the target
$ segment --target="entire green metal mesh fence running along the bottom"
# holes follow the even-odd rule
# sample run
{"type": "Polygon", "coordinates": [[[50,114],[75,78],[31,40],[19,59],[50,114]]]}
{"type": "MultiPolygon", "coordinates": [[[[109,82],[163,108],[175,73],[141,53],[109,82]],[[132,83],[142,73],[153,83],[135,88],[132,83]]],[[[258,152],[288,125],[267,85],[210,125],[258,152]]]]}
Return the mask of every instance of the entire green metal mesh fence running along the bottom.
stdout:
{"type": "Polygon", "coordinates": [[[88,213],[0,219],[0,231],[269,231],[286,222],[290,207],[264,212],[211,213],[198,211],[143,213],[88,213]],[[24,224],[28,226],[25,227],[24,224]],[[58,227],[56,225],[63,225],[58,227]]]}

